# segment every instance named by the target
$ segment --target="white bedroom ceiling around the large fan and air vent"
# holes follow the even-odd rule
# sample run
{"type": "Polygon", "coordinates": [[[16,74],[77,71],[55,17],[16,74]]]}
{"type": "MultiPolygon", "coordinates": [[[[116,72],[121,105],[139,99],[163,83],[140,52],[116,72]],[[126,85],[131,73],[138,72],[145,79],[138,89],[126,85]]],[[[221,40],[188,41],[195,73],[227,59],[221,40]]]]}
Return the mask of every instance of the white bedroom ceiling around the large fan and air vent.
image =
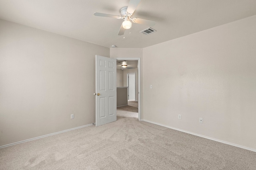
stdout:
{"type": "Polygon", "coordinates": [[[133,18],[156,21],[132,23],[117,35],[122,19],[96,17],[94,12],[120,15],[129,0],[0,0],[0,18],[82,41],[119,48],[144,48],[256,15],[256,0],[141,0],[133,18]],[[131,33],[130,33],[131,32],[131,33]],[[125,37],[125,38],[124,38],[125,37]]]}

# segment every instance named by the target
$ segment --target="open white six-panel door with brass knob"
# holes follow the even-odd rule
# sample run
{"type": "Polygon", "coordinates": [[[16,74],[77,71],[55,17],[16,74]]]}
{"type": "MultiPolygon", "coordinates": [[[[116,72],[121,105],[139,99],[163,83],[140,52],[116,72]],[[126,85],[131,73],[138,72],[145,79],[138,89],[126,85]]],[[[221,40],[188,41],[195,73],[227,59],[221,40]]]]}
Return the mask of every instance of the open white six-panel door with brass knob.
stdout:
{"type": "Polygon", "coordinates": [[[96,55],[96,126],[116,121],[116,59],[96,55]]]}

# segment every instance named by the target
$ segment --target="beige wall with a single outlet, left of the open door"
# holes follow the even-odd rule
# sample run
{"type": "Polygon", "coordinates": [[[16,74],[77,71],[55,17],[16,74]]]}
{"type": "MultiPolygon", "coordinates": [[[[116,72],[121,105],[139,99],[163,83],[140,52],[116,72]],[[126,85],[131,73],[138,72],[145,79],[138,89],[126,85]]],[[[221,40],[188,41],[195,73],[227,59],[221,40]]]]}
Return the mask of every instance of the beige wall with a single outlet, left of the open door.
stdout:
{"type": "Polygon", "coordinates": [[[109,53],[0,20],[0,146],[94,123],[95,55],[109,53]]]}

